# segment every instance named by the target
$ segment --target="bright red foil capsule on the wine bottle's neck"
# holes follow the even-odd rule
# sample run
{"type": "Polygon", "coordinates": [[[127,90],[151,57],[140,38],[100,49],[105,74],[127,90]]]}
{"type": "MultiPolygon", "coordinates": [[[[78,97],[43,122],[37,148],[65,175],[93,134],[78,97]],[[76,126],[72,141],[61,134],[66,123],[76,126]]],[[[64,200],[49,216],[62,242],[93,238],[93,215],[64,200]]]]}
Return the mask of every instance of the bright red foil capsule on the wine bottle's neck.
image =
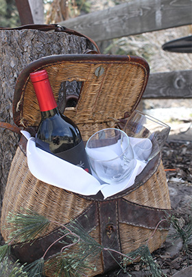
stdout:
{"type": "Polygon", "coordinates": [[[41,112],[49,112],[57,107],[48,75],[45,70],[30,74],[41,112]]]}

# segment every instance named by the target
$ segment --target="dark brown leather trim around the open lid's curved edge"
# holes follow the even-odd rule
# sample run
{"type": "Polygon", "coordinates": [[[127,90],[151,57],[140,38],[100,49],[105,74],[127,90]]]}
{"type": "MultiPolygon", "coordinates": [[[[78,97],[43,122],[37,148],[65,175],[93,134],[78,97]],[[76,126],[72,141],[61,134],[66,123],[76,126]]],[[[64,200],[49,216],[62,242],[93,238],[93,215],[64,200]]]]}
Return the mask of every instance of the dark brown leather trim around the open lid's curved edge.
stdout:
{"type": "MultiPolygon", "coordinates": [[[[16,86],[14,90],[14,99],[13,99],[13,119],[14,123],[18,126],[28,126],[29,123],[23,117],[23,99],[27,87],[27,83],[29,82],[29,73],[32,73],[36,70],[45,69],[46,67],[53,67],[54,65],[66,64],[67,62],[71,62],[75,64],[75,67],[78,67],[78,64],[98,64],[102,62],[104,64],[133,64],[134,66],[139,66],[143,69],[145,74],[145,82],[143,82],[141,91],[136,98],[135,103],[132,106],[132,111],[139,104],[139,101],[145,91],[145,87],[147,86],[147,80],[149,77],[149,65],[143,58],[133,57],[133,56],[119,56],[119,55],[103,55],[103,54],[66,54],[66,55],[53,55],[46,56],[31,62],[30,64],[21,71],[19,77],[16,80],[16,86]],[[18,108],[19,104],[19,108],[18,108]],[[21,123],[22,118],[22,123],[21,123]]],[[[86,81],[85,81],[86,82],[86,81]]]]}

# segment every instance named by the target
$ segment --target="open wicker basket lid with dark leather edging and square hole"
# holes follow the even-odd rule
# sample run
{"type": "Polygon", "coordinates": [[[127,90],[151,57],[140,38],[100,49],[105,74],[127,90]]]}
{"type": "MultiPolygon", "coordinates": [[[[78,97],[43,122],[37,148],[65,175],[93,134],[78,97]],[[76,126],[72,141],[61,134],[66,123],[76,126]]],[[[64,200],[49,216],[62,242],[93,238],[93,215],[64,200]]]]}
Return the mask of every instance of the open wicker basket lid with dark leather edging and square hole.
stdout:
{"type": "Polygon", "coordinates": [[[13,99],[14,123],[27,128],[40,123],[40,110],[29,73],[46,69],[56,101],[65,81],[82,82],[77,106],[64,115],[76,124],[102,123],[131,115],[149,77],[143,58],[103,54],[67,54],[40,58],[21,71],[13,99]]]}

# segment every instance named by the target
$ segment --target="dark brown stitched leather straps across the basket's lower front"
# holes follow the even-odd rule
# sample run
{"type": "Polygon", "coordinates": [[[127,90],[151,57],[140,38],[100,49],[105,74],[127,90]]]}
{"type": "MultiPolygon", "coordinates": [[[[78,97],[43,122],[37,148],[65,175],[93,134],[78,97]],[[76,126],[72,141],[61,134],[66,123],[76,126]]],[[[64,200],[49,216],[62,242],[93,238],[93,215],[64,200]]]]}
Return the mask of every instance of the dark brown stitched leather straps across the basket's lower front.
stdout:
{"type": "MultiPolygon", "coordinates": [[[[170,210],[149,208],[120,198],[119,200],[109,200],[106,202],[92,202],[91,205],[84,210],[84,213],[79,215],[75,220],[88,233],[99,226],[99,243],[101,243],[104,248],[110,248],[121,252],[119,223],[141,226],[152,230],[155,228],[158,230],[168,230],[169,224],[167,224],[167,221],[162,221],[168,213],[170,213],[170,210]]],[[[70,228],[69,224],[66,224],[66,226],[70,228]]],[[[63,229],[63,227],[60,229],[63,229]]],[[[61,237],[62,234],[60,229],[58,228],[45,237],[36,239],[33,243],[29,242],[12,245],[12,254],[16,258],[19,258],[22,263],[32,263],[36,259],[41,258],[47,248],[49,248],[49,245],[61,237]]],[[[67,239],[66,242],[71,243],[69,239],[67,239]]],[[[55,243],[47,252],[45,260],[60,252],[62,247],[62,243],[55,243]]],[[[112,252],[112,256],[117,261],[120,261],[119,254],[112,252]]],[[[102,252],[104,272],[108,272],[108,270],[117,267],[117,262],[112,256],[105,250],[102,252]]]]}

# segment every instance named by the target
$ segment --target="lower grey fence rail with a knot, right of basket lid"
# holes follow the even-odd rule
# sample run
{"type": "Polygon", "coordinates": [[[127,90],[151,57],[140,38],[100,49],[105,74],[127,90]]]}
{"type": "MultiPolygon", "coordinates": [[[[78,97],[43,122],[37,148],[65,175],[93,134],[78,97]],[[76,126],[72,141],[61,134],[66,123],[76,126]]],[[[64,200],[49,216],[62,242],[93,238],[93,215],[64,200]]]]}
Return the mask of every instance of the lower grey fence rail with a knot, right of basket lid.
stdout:
{"type": "Polygon", "coordinates": [[[143,98],[192,98],[192,70],[150,74],[143,98]]]}

